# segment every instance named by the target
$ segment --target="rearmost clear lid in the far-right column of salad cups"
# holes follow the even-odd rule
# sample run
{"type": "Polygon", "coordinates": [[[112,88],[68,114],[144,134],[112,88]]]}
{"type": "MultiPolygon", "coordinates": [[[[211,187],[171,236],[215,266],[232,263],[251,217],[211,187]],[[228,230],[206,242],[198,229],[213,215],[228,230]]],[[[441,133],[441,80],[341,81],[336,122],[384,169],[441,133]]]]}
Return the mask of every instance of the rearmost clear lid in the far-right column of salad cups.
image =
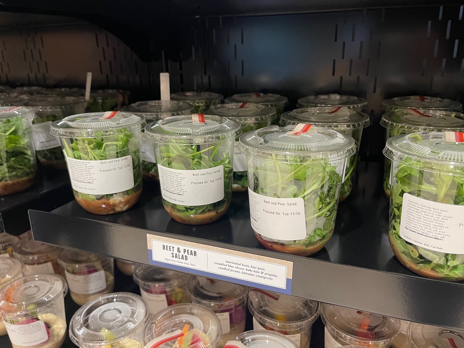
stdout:
{"type": "Polygon", "coordinates": [[[455,102],[454,100],[426,96],[407,96],[386,99],[383,100],[382,103],[380,103],[380,107],[385,111],[389,111],[395,108],[415,108],[449,111],[463,110],[463,105],[461,103],[455,102]]]}

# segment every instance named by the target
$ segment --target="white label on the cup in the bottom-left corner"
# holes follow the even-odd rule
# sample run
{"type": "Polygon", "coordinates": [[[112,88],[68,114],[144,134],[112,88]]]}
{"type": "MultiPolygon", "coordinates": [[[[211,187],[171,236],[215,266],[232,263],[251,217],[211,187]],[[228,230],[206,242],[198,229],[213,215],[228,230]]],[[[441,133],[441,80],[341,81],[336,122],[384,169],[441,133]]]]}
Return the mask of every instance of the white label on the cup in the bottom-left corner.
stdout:
{"type": "Polygon", "coordinates": [[[11,343],[16,346],[30,347],[48,341],[47,328],[43,320],[22,325],[3,322],[11,343]]]}

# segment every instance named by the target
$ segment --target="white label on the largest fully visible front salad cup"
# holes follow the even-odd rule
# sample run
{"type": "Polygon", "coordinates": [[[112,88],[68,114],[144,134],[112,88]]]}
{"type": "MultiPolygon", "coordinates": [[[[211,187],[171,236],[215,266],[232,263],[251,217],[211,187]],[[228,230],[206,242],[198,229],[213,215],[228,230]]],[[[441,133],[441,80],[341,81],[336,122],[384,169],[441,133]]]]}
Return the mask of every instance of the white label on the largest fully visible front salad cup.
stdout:
{"type": "Polygon", "coordinates": [[[267,197],[250,188],[248,193],[253,230],[264,237],[277,240],[306,238],[303,198],[267,197]]]}

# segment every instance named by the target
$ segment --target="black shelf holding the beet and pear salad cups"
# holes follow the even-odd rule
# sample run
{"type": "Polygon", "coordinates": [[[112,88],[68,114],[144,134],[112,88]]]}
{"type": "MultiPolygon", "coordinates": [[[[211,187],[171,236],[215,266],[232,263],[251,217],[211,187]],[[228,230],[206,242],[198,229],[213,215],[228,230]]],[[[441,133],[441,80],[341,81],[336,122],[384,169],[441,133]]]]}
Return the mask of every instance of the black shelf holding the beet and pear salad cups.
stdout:
{"type": "MultiPolygon", "coordinates": [[[[388,243],[383,163],[360,162],[356,184],[340,204],[335,232],[322,251],[299,257],[264,250],[250,226],[248,197],[234,195],[226,216],[205,226],[170,219],[155,186],[128,212],[98,216],[77,202],[51,213],[31,210],[36,240],[148,264],[147,233],[293,262],[291,294],[414,322],[464,328],[464,283],[419,277],[388,243]],[[53,231],[53,233],[51,233],[53,231]]],[[[210,277],[215,277],[210,275],[210,277]]]]}

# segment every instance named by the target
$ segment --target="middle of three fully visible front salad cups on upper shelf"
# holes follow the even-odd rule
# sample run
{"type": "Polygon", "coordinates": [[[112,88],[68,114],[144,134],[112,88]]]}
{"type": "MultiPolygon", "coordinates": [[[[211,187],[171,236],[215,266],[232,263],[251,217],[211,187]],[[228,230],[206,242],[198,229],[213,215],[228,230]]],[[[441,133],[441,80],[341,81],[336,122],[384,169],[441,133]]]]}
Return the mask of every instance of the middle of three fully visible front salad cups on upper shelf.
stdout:
{"type": "Polygon", "coordinates": [[[203,225],[226,213],[239,134],[238,122],[203,114],[147,125],[144,135],[155,143],[163,205],[174,220],[203,225]]]}

